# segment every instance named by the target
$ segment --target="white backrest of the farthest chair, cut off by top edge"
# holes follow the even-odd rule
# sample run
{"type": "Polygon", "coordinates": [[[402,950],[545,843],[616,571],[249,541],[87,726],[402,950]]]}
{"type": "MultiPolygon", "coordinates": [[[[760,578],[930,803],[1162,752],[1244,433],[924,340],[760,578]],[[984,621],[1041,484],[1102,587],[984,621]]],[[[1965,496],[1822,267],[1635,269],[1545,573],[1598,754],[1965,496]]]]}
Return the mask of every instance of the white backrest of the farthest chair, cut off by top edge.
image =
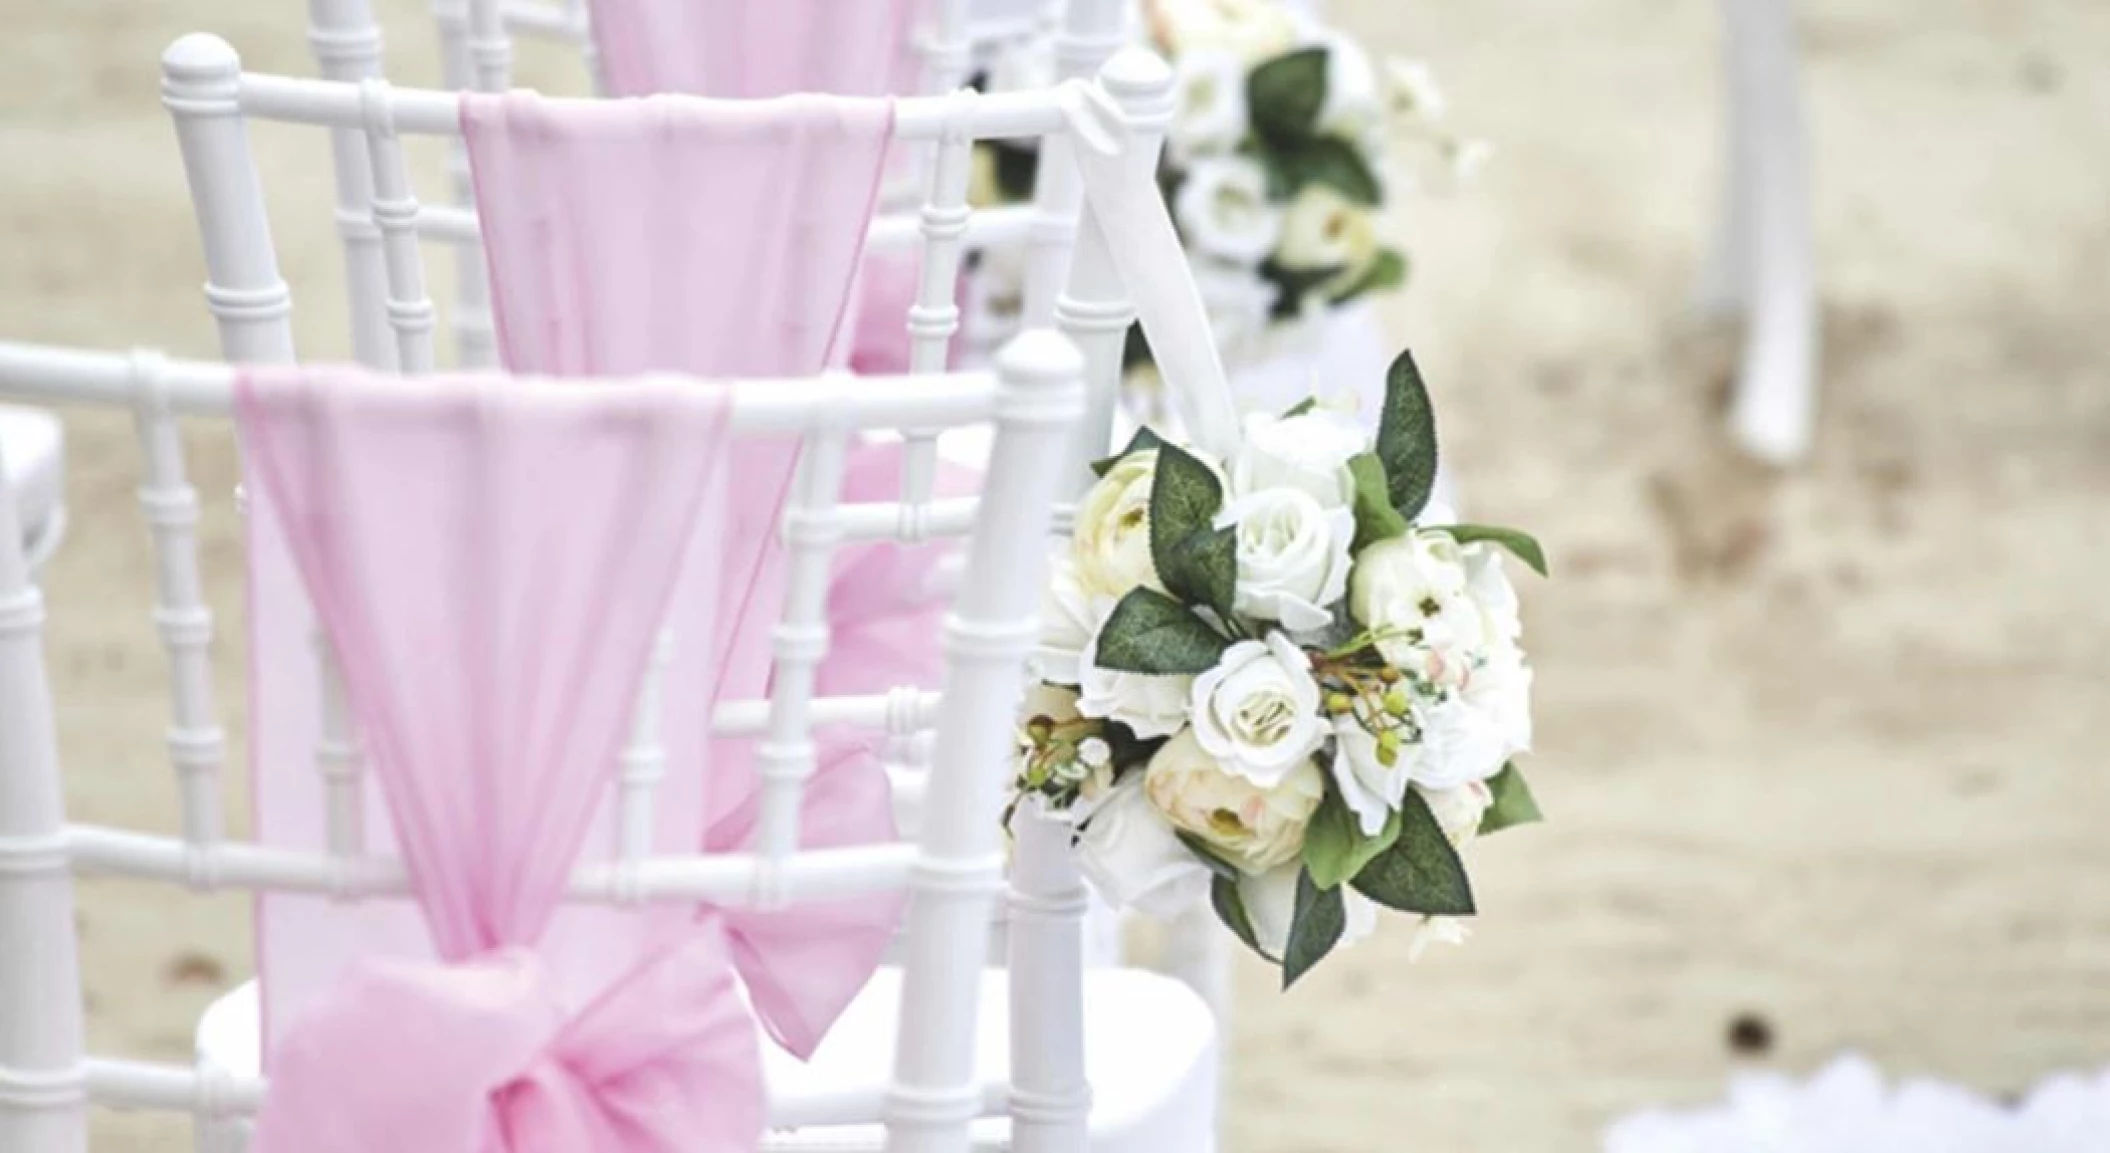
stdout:
{"type": "MultiPolygon", "coordinates": [[[[983,21],[977,21],[977,6],[968,0],[931,0],[920,8],[914,51],[922,61],[918,91],[924,95],[952,93],[966,82],[977,40],[1021,34],[1021,4],[1017,0],[996,6],[983,21]]],[[[584,0],[435,0],[433,15],[439,25],[443,87],[449,91],[502,93],[511,89],[515,34],[574,46],[582,55],[589,76],[597,76],[584,0]]],[[[1061,80],[1093,76],[1123,44],[1125,19],[1125,0],[1063,0],[1061,23],[1055,30],[1057,76],[1061,80]]],[[[384,78],[382,36],[369,0],[308,0],[308,42],[321,74],[329,80],[384,78]]],[[[380,228],[369,220],[373,199],[369,150],[359,139],[359,127],[335,127],[331,137],[352,353],[361,363],[392,367],[384,243],[380,228]]],[[[1059,141],[1055,150],[1061,150],[1059,141]]],[[[941,154],[943,144],[928,141],[928,148],[912,152],[914,163],[901,173],[907,177],[907,188],[901,182],[888,182],[886,194],[880,199],[886,215],[876,228],[876,249],[914,243],[918,228],[914,211],[893,213],[920,199],[916,184],[926,182],[939,169],[941,154]]],[[[473,194],[468,156],[460,141],[449,146],[447,163],[449,199],[456,207],[466,207],[473,194]]],[[[1068,247],[1074,237],[1068,222],[1076,215],[1078,190],[1066,169],[1068,165],[1059,163],[1042,165],[1036,171],[1036,182],[1047,184],[1047,190],[1042,194],[1036,188],[1032,207],[998,207],[977,213],[975,226],[960,241],[962,256],[981,249],[1028,251],[1025,323],[1030,327],[1051,321],[1068,266],[1068,247]]],[[[958,177],[966,179],[964,167],[958,177]]],[[[464,367],[496,365],[481,237],[473,228],[445,232],[456,249],[456,300],[449,317],[456,361],[464,367]]],[[[922,285],[931,285],[928,277],[922,285]]],[[[933,289],[931,300],[920,294],[918,304],[935,308],[950,302],[954,287],[956,279],[943,281],[933,289]],[[937,289],[943,289],[943,298],[937,289]]],[[[958,327],[956,321],[954,327],[958,327]]],[[[943,348],[943,340],[939,348],[943,348]]],[[[912,361],[912,367],[931,370],[937,365],[918,359],[912,361]]]]}

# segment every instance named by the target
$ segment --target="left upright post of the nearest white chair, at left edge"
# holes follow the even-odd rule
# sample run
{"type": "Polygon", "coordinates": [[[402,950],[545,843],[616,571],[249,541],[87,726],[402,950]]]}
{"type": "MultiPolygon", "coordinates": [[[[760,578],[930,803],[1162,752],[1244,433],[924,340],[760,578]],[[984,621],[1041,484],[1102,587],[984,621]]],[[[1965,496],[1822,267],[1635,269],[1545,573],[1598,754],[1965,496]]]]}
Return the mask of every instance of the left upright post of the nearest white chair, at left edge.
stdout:
{"type": "MultiPolygon", "coordinates": [[[[6,469],[0,467],[0,477],[6,469]]],[[[44,600],[0,481],[0,1149],[82,1153],[80,963],[44,600]]]]}

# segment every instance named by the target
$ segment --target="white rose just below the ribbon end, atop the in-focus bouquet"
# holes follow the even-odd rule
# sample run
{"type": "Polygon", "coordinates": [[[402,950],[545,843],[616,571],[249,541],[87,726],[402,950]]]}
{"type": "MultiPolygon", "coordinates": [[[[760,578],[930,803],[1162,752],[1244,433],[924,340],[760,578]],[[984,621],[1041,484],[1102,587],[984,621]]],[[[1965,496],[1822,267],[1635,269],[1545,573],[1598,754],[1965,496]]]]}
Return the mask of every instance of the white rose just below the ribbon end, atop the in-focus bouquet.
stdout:
{"type": "Polygon", "coordinates": [[[1264,488],[1232,498],[1215,524],[1236,530],[1236,612],[1296,631],[1334,621],[1331,606],[1348,591],[1355,513],[1300,488],[1264,488]]]}

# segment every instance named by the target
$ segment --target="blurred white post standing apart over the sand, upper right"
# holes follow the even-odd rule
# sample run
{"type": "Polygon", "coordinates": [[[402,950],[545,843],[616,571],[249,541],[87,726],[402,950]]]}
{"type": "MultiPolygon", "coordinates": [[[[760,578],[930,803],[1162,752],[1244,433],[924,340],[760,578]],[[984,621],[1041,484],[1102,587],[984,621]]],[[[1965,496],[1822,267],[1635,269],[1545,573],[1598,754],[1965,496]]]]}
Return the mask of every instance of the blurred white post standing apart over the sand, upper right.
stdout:
{"type": "Polygon", "coordinates": [[[1747,317],[1730,427],[1775,465],[1810,446],[1817,298],[1794,17],[1785,0],[1722,0],[1728,59],[1726,220],[1703,300],[1747,317]]]}

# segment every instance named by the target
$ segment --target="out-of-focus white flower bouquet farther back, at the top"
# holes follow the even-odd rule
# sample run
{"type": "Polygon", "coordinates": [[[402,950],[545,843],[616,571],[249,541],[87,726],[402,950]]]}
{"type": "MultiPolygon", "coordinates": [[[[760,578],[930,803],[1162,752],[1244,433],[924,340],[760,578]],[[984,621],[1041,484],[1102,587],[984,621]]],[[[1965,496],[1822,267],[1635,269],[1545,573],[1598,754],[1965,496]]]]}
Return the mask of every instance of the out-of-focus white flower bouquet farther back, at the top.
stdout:
{"type": "MultiPolygon", "coordinates": [[[[1378,234],[1378,211],[1409,175],[1395,171],[1395,141],[1426,146],[1452,175],[1485,154],[1443,127],[1431,72],[1405,59],[1380,68],[1346,34],[1272,0],[1150,0],[1144,13],[1150,46],[1177,74],[1158,186],[1226,361],[1268,359],[1336,308],[1399,289],[1407,258],[1378,234]]],[[[1053,82],[1047,44],[1017,49],[990,84],[1053,82]]],[[[977,203],[1032,194],[1036,152],[996,144],[977,156],[977,203]]],[[[1002,338],[1019,279],[1000,258],[977,270],[971,332],[1002,338]]],[[[1139,329],[1127,359],[1148,361],[1139,329]]]]}

